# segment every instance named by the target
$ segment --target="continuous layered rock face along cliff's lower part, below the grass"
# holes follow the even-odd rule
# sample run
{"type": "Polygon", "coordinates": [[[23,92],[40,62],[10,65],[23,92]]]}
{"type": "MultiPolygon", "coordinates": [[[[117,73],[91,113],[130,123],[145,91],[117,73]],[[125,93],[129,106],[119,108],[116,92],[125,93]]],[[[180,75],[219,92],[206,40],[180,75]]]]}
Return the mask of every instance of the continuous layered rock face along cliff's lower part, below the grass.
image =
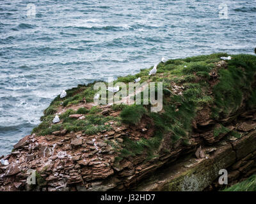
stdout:
{"type": "MultiPolygon", "coordinates": [[[[243,132],[245,131],[244,127],[248,130],[248,126],[247,124],[244,125],[244,122],[238,122],[236,126],[243,132]]],[[[28,190],[26,179],[29,175],[29,169],[36,170],[40,174],[40,179],[37,179],[36,185],[42,191],[122,191],[124,189],[136,189],[138,186],[140,186],[138,190],[145,191],[201,191],[218,176],[216,174],[217,169],[212,168],[212,165],[218,166],[218,168],[230,166],[232,169],[230,179],[232,180],[239,178],[241,172],[244,174],[254,172],[255,159],[253,160],[253,158],[256,157],[256,133],[253,131],[252,123],[250,123],[249,128],[252,133],[246,132],[242,138],[236,138],[234,142],[225,135],[220,138],[210,134],[206,138],[205,133],[198,134],[195,131],[194,139],[189,145],[177,145],[171,152],[161,153],[158,159],[151,159],[146,163],[143,156],[129,157],[118,163],[115,162],[117,153],[111,145],[106,143],[106,138],[109,138],[108,140],[115,138],[115,142],[122,144],[123,138],[129,136],[130,133],[129,126],[113,127],[113,129],[114,131],[91,136],[82,135],[78,132],[62,136],[28,135],[22,138],[15,145],[15,151],[4,157],[4,159],[8,159],[10,164],[8,166],[0,165],[1,191],[28,190]],[[195,147],[199,147],[198,144],[204,144],[204,142],[209,143],[198,148],[198,158],[196,159],[195,147]],[[192,159],[179,161],[181,154],[192,155],[192,159]],[[166,175],[170,175],[171,179],[169,180],[165,178],[163,182],[157,181],[155,178],[156,182],[153,186],[143,182],[143,179],[150,175],[150,172],[156,171],[165,163],[173,163],[173,165],[176,163],[179,172],[187,169],[191,172],[191,169],[195,168],[197,173],[182,175],[183,181],[180,182],[179,174],[175,172],[178,169],[170,170],[166,173],[166,175]],[[203,171],[205,173],[202,173],[203,171]],[[207,175],[208,180],[201,184],[200,180],[204,179],[202,175],[207,175]],[[179,182],[176,182],[175,178],[179,182]]],[[[138,129],[143,128],[138,126],[138,129]]],[[[140,131],[141,134],[144,132],[140,131]]],[[[166,143],[168,143],[167,141],[166,143]]],[[[160,152],[162,148],[164,145],[160,147],[160,152]]],[[[173,168],[177,168],[175,165],[173,168]]]]}

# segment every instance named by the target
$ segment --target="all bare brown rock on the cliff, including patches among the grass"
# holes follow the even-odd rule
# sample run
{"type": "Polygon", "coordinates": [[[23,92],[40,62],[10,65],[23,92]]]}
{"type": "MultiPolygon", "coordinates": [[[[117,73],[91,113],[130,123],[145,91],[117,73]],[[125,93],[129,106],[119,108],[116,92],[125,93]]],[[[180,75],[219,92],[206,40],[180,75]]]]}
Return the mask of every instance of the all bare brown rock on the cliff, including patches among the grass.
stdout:
{"type": "MultiPolygon", "coordinates": [[[[182,87],[173,84],[173,90],[179,94],[182,87]]],[[[101,109],[101,117],[118,117],[120,113],[114,112],[109,106],[102,106],[101,109]]],[[[252,118],[253,114],[244,113],[247,118],[252,118]]],[[[79,119],[82,116],[73,114],[69,117],[79,119]]],[[[227,120],[231,119],[228,117],[227,120]]],[[[105,125],[110,129],[106,128],[95,135],[63,129],[51,135],[28,135],[22,138],[14,146],[15,151],[3,158],[10,164],[0,165],[0,191],[28,190],[26,179],[29,169],[36,170],[40,175],[40,183],[36,184],[40,191],[189,190],[191,186],[202,190],[218,177],[217,170],[220,168],[230,168],[230,179],[233,180],[239,178],[241,173],[254,172],[255,124],[244,122],[243,119],[234,120],[227,128],[230,131],[244,131],[243,136],[234,141],[228,139],[228,133],[214,136],[214,129],[221,126],[220,121],[210,119],[209,108],[196,116],[193,131],[186,133],[189,136],[187,143],[181,140],[173,143],[173,134],[166,133],[159,148],[154,150],[156,157],[152,158],[148,158],[145,152],[136,154],[134,150],[134,156],[130,153],[120,159],[118,152],[127,145],[126,138],[133,142],[141,141],[142,138],[150,139],[155,131],[151,119],[143,117],[137,126],[117,126],[115,120],[105,125]],[[200,148],[196,150],[196,147],[200,148]],[[162,166],[166,168],[159,172],[162,166]],[[184,175],[193,173],[185,177],[182,172],[184,175]],[[149,180],[144,180],[148,177],[149,180]],[[190,177],[207,179],[201,184],[190,177]]]]}

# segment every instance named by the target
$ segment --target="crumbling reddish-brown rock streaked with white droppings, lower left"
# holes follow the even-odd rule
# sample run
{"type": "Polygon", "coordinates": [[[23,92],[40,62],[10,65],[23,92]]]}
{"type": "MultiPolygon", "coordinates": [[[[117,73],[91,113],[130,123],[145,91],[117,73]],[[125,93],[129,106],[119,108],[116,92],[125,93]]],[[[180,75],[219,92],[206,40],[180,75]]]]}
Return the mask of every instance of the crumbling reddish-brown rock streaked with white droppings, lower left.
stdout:
{"type": "MultiPolygon", "coordinates": [[[[118,186],[113,180],[122,182],[118,177],[128,177],[130,181],[135,173],[134,164],[124,160],[116,165],[117,154],[106,141],[116,138],[115,142],[122,143],[122,137],[130,134],[131,138],[135,137],[136,131],[124,125],[115,127],[113,122],[109,124],[113,131],[98,135],[58,131],[47,136],[33,134],[22,138],[15,145],[15,152],[5,158],[10,165],[0,166],[1,190],[8,191],[10,187],[13,191],[29,190],[26,179],[30,169],[40,175],[36,185],[44,191],[108,190],[118,186]],[[121,171],[119,175],[115,175],[116,170],[121,171]],[[12,183],[12,180],[17,182],[12,183]]],[[[138,127],[138,132],[145,125],[138,127]]],[[[145,133],[136,134],[143,135],[145,133]]]]}

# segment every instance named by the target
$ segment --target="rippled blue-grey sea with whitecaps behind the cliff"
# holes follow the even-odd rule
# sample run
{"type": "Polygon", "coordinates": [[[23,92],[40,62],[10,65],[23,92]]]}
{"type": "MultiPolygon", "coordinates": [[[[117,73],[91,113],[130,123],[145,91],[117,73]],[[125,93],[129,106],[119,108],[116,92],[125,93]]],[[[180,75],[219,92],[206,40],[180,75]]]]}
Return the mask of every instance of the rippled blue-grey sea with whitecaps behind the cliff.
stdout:
{"type": "Polygon", "coordinates": [[[135,74],[163,56],[254,47],[255,0],[1,0],[0,156],[63,89],[135,74]]]}

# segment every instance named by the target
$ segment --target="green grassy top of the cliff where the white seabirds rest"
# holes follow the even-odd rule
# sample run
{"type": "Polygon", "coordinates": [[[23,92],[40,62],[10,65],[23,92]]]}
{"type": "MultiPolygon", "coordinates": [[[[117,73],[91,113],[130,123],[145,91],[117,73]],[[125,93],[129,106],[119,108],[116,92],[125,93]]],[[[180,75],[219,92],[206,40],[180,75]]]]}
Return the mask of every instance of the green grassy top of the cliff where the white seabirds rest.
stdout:
{"type": "MultiPolygon", "coordinates": [[[[170,59],[157,65],[157,73],[148,76],[150,69],[141,69],[136,75],[118,77],[116,82],[133,82],[140,77],[142,82],[163,82],[163,110],[159,113],[150,112],[150,105],[112,105],[110,108],[117,114],[102,114],[103,106],[92,106],[93,84],[78,85],[67,90],[67,96],[60,99],[57,96],[41,117],[42,123],[33,129],[36,135],[51,135],[54,131],[66,129],[67,132],[82,131],[86,135],[94,135],[104,130],[111,131],[113,126],[138,126],[142,119],[147,120],[147,129],[154,129],[149,138],[140,140],[124,140],[120,150],[120,158],[134,156],[142,152],[156,150],[165,134],[172,135],[172,145],[166,148],[170,151],[178,141],[183,145],[189,143],[192,122],[198,119],[198,112],[209,110],[210,119],[221,121],[232,117],[239,108],[252,109],[256,106],[256,89],[253,89],[256,71],[254,55],[230,55],[230,61],[222,61],[220,57],[228,54],[218,53],[187,57],[185,59],[170,59]],[[86,101],[86,102],[85,102],[86,101]],[[61,121],[52,124],[55,114],[61,121]],[[69,115],[79,113],[84,118],[77,120],[69,115]],[[150,121],[150,122],[148,122],[150,121]]],[[[143,98],[143,97],[142,97],[143,98]]],[[[200,120],[200,119],[198,119],[200,120]]],[[[214,136],[227,131],[225,123],[214,130],[214,136]]],[[[232,133],[236,135],[236,133],[232,133]]]]}

